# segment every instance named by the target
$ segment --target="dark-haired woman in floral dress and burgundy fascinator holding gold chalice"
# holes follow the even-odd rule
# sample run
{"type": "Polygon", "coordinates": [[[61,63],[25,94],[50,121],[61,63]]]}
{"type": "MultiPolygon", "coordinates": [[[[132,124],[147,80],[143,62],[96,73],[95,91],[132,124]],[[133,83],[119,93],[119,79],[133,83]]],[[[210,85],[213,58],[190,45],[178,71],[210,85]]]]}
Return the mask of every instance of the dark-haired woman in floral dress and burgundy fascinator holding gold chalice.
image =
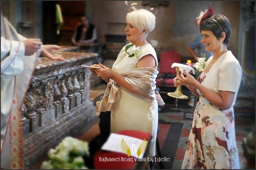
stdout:
{"type": "Polygon", "coordinates": [[[210,7],[198,21],[203,35],[201,43],[213,56],[206,61],[198,80],[188,72],[174,78],[176,86],[178,79],[199,96],[182,169],[239,169],[233,106],[242,70],[236,57],[227,50],[229,20],[213,13],[210,7]]]}

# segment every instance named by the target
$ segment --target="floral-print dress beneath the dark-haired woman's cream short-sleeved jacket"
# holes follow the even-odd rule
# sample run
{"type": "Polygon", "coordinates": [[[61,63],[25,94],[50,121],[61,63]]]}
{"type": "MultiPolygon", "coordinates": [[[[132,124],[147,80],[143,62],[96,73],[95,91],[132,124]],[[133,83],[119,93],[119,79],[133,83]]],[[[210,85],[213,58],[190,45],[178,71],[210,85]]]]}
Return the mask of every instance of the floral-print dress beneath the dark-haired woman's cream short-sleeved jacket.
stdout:
{"type": "MultiPolygon", "coordinates": [[[[202,72],[202,83],[207,73],[202,72]]],[[[239,169],[233,107],[225,111],[212,105],[197,89],[199,102],[181,169],[239,169]]]]}

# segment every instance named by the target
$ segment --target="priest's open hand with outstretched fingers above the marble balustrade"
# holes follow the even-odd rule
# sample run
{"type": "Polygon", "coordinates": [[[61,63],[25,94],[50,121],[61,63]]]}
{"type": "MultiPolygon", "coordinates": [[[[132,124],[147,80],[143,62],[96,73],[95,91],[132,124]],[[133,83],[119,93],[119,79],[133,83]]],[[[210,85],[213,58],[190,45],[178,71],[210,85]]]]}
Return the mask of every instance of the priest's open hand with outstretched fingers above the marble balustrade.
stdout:
{"type": "Polygon", "coordinates": [[[60,50],[60,47],[57,45],[44,45],[42,49],[42,55],[52,60],[65,61],[63,57],[59,57],[54,54],[53,50],[60,50]]]}

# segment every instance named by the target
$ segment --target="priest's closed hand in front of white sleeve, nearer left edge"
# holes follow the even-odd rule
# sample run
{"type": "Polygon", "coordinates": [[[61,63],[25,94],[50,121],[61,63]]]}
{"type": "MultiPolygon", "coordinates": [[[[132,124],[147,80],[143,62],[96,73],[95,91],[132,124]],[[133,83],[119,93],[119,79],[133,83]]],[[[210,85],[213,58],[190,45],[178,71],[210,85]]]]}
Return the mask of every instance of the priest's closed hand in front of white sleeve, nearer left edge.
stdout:
{"type": "Polygon", "coordinates": [[[25,46],[25,55],[31,56],[35,52],[37,52],[38,49],[41,48],[42,42],[40,39],[32,39],[28,38],[23,41],[25,46]]]}

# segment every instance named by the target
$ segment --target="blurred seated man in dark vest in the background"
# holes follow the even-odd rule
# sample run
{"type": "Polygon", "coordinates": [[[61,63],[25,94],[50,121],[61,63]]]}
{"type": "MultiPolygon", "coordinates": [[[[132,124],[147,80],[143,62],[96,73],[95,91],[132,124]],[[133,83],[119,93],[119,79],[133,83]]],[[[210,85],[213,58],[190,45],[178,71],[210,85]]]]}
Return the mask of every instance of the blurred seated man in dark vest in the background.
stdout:
{"type": "Polygon", "coordinates": [[[81,17],[81,24],[75,29],[72,42],[76,46],[92,43],[97,40],[96,27],[90,24],[86,16],[81,17]]]}

